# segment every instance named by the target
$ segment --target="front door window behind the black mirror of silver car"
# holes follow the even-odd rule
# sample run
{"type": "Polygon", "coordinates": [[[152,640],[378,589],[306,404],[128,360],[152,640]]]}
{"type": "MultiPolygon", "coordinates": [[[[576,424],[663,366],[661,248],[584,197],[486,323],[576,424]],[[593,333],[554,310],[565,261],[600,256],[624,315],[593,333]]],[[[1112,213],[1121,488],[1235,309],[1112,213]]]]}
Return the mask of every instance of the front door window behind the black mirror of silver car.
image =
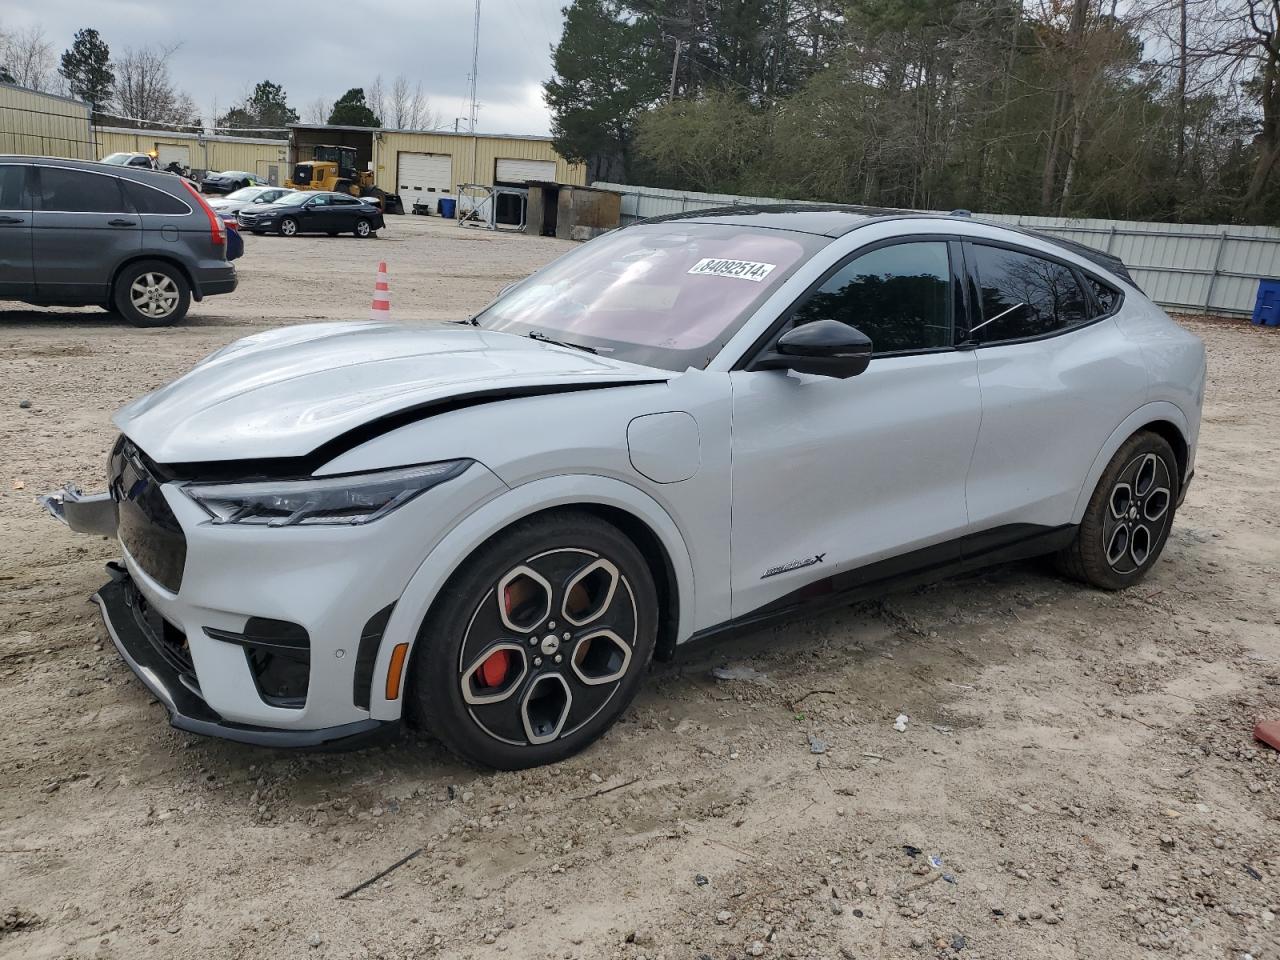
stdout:
{"type": "Polygon", "coordinates": [[[951,346],[951,262],[945,241],[895,243],[850,260],[801,301],[792,325],[840,320],[877,355],[951,346]]]}

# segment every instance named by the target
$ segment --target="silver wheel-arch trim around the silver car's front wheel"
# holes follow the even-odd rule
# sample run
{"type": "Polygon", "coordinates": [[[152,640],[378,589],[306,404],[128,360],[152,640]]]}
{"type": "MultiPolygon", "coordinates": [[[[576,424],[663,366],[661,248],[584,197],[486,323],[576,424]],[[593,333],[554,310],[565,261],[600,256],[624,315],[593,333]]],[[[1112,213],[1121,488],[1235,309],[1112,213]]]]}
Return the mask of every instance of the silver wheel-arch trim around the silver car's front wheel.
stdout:
{"type": "Polygon", "coordinates": [[[499,494],[467,515],[445,534],[413,573],[396,603],[378,652],[370,698],[370,714],[374,718],[396,719],[401,716],[406,685],[401,684],[401,695],[396,700],[388,700],[384,692],[392,653],[398,644],[408,644],[410,657],[404,658],[404,663],[408,663],[422,620],[458,566],[485,540],[516,521],[552,507],[582,503],[623,509],[644,521],[658,536],[676,575],[678,594],[676,641],[680,643],[692,634],[692,562],[684,535],[657,500],[631,484],[605,476],[568,475],[534,480],[499,494]]]}

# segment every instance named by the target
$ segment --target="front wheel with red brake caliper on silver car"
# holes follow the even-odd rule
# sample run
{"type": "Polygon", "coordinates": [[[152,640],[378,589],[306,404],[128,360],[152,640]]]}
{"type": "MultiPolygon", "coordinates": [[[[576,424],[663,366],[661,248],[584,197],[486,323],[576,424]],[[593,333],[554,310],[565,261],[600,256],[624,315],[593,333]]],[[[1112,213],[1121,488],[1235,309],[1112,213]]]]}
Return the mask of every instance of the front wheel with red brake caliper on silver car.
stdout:
{"type": "Polygon", "coordinates": [[[584,511],[532,517],[485,543],[440,591],[406,705],[472,763],[556,763],[631,703],[657,632],[658,594],[627,536],[584,511]]]}

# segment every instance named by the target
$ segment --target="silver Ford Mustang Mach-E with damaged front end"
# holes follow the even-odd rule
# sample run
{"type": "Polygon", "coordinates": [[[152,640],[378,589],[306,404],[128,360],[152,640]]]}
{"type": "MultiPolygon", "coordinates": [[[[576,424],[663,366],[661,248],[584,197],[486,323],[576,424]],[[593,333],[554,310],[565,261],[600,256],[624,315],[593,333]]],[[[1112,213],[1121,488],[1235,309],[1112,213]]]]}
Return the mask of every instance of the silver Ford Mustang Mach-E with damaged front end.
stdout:
{"type": "Polygon", "coordinates": [[[96,595],[175,726],[471,760],[590,744],[690,639],[1056,553],[1156,563],[1201,342],[1085,247],[959,216],[701,211],[435,328],[315,324],[115,416],[96,595]]]}

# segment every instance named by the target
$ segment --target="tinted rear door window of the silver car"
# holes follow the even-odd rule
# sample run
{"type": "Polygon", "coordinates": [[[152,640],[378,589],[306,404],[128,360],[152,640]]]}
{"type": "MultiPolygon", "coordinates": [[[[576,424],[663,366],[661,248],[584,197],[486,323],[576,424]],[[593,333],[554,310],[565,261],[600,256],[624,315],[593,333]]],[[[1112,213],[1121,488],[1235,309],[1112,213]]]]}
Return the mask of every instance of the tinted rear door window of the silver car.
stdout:
{"type": "Polygon", "coordinates": [[[970,246],[982,291],[979,343],[1043,337],[1089,320],[1075,273],[1062,264],[980,243],[970,246]]]}

